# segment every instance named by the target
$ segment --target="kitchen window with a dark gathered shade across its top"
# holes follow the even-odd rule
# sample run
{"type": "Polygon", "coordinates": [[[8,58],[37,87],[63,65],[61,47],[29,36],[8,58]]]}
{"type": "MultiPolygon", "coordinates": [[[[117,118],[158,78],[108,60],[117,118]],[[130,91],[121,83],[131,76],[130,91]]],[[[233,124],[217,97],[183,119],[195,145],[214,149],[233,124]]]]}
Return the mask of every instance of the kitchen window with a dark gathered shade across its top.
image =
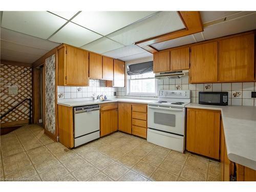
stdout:
{"type": "Polygon", "coordinates": [[[127,95],[156,96],[157,84],[153,61],[127,66],[127,95]]]}

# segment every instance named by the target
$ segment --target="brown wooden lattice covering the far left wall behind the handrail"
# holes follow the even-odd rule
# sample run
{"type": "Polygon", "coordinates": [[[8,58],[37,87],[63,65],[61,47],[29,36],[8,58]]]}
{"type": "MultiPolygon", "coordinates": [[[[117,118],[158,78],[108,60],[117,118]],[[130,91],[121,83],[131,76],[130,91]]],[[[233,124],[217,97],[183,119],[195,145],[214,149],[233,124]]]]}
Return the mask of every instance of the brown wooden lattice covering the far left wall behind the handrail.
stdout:
{"type": "MultiPolygon", "coordinates": [[[[16,105],[18,102],[23,101],[27,98],[32,98],[32,69],[31,67],[22,66],[11,66],[1,64],[1,115],[7,112],[12,106],[16,105]],[[9,86],[17,86],[18,94],[9,95],[9,86]]],[[[20,120],[29,119],[29,104],[24,102],[24,104],[18,106],[16,110],[9,113],[3,119],[1,123],[13,122],[20,120]]]]}

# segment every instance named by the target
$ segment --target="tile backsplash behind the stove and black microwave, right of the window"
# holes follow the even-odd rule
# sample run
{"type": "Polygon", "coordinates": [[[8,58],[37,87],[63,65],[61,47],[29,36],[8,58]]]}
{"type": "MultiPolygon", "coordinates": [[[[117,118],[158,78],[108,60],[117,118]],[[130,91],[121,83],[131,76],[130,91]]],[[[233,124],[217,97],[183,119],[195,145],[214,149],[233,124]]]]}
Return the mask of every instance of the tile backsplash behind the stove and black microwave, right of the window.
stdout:
{"type": "Polygon", "coordinates": [[[251,98],[251,92],[256,91],[256,82],[189,84],[188,76],[184,76],[158,79],[158,90],[191,90],[191,102],[198,102],[200,91],[226,91],[229,105],[256,106],[256,99],[251,98]]]}

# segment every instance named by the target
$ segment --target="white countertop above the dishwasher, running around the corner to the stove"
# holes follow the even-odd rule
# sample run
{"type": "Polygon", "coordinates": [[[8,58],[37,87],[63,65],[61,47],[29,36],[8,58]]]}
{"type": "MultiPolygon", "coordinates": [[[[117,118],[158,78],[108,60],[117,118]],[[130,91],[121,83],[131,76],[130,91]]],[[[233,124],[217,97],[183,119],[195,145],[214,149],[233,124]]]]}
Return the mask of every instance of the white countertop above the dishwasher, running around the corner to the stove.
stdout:
{"type": "Polygon", "coordinates": [[[110,102],[130,102],[130,103],[141,103],[147,104],[153,102],[155,100],[145,100],[145,99],[123,99],[123,98],[115,98],[110,99],[110,101],[93,101],[93,100],[82,100],[82,99],[74,99],[70,101],[61,101],[58,100],[57,104],[64,106],[83,106],[83,105],[91,105],[91,104],[101,104],[101,103],[110,103],[110,102]]]}

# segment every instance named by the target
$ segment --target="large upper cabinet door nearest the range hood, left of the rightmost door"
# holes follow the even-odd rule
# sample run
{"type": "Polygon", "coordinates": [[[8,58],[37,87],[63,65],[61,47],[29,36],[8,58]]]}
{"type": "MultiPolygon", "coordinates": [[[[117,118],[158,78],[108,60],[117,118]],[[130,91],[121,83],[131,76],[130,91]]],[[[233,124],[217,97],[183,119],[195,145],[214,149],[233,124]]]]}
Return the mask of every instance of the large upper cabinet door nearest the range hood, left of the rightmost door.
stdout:
{"type": "Polygon", "coordinates": [[[190,82],[215,82],[218,80],[218,42],[191,47],[190,82]]]}

